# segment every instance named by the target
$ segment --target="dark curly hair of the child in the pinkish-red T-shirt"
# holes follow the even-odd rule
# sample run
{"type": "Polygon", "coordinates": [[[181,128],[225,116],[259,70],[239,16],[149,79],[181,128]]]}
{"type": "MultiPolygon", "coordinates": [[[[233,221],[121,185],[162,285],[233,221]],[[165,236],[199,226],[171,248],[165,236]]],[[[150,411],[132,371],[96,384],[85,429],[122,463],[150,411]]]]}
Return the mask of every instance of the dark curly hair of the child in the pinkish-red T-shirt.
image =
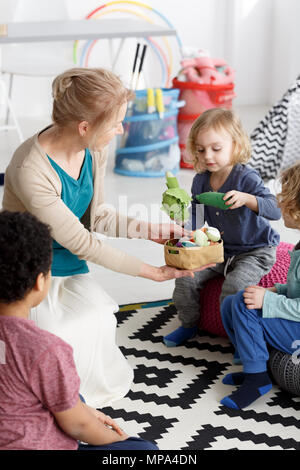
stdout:
{"type": "Polygon", "coordinates": [[[22,300],[37,276],[49,273],[50,228],[28,212],[0,213],[0,302],[22,300]]]}

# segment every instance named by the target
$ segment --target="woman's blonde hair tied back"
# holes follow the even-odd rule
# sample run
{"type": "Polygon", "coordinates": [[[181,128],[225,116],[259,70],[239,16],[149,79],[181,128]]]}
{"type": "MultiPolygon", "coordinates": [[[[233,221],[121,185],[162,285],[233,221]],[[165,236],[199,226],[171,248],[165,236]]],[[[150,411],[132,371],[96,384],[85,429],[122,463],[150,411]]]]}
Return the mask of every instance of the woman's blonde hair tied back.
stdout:
{"type": "Polygon", "coordinates": [[[100,126],[133,98],[119,77],[101,68],[66,70],[54,79],[52,95],[52,120],[58,127],[82,121],[100,126]]]}

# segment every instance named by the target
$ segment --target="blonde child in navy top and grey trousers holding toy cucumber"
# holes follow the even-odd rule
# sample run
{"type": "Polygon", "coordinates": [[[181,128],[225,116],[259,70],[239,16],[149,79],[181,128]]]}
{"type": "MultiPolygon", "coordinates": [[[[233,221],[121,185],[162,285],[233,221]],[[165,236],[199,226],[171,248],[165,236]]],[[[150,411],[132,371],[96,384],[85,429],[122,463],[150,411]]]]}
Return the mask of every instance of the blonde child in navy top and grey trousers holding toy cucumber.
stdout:
{"type": "MultiPolygon", "coordinates": [[[[206,281],[225,276],[221,305],[226,296],[257,284],[270,271],[279,243],[268,220],[280,219],[280,210],[259,174],[246,165],[250,142],[236,114],[222,108],[205,111],[193,123],[188,147],[196,170],[189,224],[193,230],[199,228],[197,194],[225,193],[228,210],[204,207],[204,220],[222,233],[225,261],[196,273],[193,279],[176,279],[173,299],[181,326],[165,336],[167,346],[178,346],[197,333],[200,291],[206,281]]],[[[235,356],[238,362],[238,351],[235,356]]]]}

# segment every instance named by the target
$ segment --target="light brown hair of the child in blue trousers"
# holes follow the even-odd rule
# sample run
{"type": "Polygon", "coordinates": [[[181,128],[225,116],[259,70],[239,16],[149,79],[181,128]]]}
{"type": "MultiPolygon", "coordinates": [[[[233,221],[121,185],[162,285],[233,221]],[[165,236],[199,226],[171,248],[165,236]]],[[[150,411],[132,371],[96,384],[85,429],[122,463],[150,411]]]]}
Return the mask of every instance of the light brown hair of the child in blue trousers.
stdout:
{"type": "Polygon", "coordinates": [[[300,219],[300,162],[284,170],[280,177],[281,192],[277,201],[294,220],[300,219]]]}

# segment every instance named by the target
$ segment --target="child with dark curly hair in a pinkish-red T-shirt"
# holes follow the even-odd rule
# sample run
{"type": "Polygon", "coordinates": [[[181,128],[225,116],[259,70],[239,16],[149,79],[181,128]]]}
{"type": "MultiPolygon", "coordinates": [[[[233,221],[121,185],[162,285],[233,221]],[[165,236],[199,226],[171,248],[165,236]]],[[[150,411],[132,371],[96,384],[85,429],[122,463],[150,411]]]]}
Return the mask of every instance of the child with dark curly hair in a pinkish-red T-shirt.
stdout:
{"type": "Polygon", "coordinates": [[[48,293],[51,261],[47,225],[0,213],[0,449],[157,449],[83,403],[72,347],[29,319],[48,293]]]}

